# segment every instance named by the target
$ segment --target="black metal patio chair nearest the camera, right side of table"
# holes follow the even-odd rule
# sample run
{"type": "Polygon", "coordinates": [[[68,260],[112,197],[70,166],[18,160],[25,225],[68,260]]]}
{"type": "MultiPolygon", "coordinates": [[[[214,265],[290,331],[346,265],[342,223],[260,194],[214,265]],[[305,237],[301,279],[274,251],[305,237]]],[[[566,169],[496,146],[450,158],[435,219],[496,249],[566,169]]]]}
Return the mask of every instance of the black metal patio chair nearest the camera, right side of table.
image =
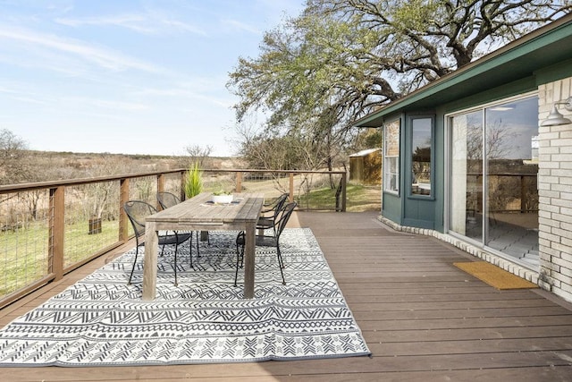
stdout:
{"type": "MultiPolygon", "coordinates": [[[[286,206],[282,208],[280,213],[278,214],[277,219],[274,222],[273,226],[273,236],[268,235],[257,235],[256,237],[256,245],[258,247],[275,247],[276,248],[276,257],[278,259],[278,267],[280,267],[280,273],[282,275],[282,284],[286,284],[286,280],[284,279],[284,261],[282,259],[282,252],[280,251],[280,235],[282,231],[286,227],[294,208],[296,208],[297,204],[295,201],[288,203],[286,206]]],[[[242,267],[244,261],[244,246],[245,246],[245,235],[244,231],[241,231],[238,236],[236,237],[236,273],[234,275],[234,286],[237,286],[237,280],[239,277],[239,267],[242,267]]]]}

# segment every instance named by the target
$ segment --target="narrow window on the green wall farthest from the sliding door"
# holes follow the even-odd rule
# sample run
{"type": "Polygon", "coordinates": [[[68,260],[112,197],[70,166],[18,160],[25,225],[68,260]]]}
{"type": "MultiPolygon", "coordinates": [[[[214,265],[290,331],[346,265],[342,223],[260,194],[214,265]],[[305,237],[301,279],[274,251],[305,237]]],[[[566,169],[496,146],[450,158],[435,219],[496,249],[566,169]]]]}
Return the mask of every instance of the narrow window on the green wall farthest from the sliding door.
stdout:
{"type": "Polygon", "coordinates": [[[400,192],[400,120],[383,128],[383,190],[400,192]]]}

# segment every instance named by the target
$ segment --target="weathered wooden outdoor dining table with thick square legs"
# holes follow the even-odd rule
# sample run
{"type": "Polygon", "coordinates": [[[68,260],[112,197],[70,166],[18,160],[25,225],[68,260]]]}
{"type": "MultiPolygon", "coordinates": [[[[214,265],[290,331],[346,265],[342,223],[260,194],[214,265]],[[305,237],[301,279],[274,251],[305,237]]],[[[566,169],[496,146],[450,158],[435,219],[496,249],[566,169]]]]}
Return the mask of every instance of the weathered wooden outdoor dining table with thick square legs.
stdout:
{"type": "Polygon", "coordinates": [[[264,194],[235,194],[231,203],[212,202],[212,193],[203,192],[175,206],[147,216],[145,223],[145,259],[143,262],[143,300],[156,297],[157,231],[244,231],[244,297],[254,297],[255,240],[258,216],[264,194]]]}

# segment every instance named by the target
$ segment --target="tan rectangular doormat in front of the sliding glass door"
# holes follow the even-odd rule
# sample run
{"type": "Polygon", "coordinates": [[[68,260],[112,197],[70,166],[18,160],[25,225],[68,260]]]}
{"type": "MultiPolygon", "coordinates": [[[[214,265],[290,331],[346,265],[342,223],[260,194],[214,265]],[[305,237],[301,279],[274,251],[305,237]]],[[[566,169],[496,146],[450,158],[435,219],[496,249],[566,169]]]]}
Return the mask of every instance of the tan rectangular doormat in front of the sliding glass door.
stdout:
{"type": "Polygon", "coordinates": [[[453,263],[453,265],[497,289],[538,288],[538,285],[486,261],[453,263]]]}

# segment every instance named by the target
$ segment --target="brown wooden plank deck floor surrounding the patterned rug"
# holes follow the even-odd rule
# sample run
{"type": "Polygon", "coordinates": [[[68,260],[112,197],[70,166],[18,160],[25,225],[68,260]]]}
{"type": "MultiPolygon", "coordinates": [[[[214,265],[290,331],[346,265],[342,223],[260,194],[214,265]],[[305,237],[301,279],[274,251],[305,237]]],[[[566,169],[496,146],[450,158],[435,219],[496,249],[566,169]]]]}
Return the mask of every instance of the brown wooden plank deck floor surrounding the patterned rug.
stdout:
{"type": "MultiPolygon", "coordinates": [[[[376,213],[298,213],[324,250],[373,357],[110,368],[4,368],[6,381],[572,381],[572,305],[497,291],[452,265],[474,259],[396,233],[376,213]]],[[[294,219],[296,220],[296,219],[294,219]]],[[[132,246],[132,244],[130,245],[132,246]]],[[[117,253],[125,248],[118,249],[117,253]]],[[[0,326],[100,267],[97,259],[0,311],[0,326]]]]}

